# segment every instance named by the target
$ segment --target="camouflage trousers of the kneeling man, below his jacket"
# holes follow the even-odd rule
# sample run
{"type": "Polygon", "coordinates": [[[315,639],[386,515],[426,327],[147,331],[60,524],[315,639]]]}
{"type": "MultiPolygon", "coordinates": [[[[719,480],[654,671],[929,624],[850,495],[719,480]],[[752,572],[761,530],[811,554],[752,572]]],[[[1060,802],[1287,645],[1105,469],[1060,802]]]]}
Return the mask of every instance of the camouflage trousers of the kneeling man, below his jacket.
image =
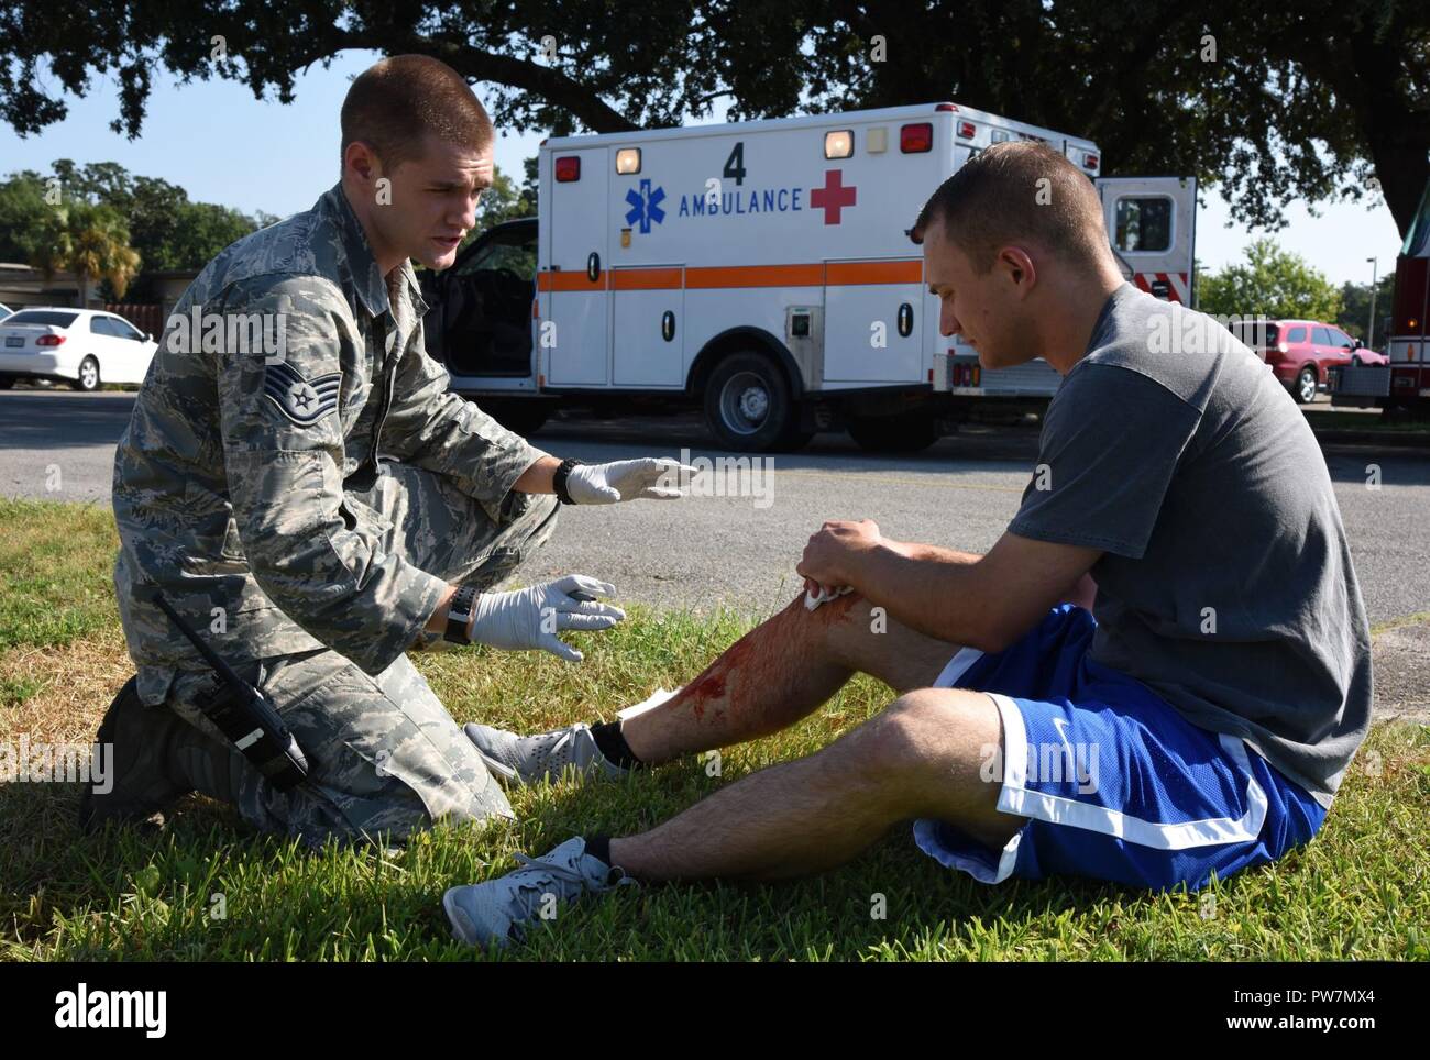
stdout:
{"type": "MultiPolygon", "coordinates": [[[[499,584],[549,537],[556,499],[512,494],[496,524],[478,501],[440,474],[385,464],[386,474],[350,497],[369,504],[400,550],[448,581],[499,584]]],[[[422,647],[440,646],[429,636],[422,647]]],[[[199,711],[212,674],[182,673],[167,704],[194,729],[176,740],[177,771],[235,803],[255,827],[313,846],[385,833],[402,839],[438,819],[512,817],[506,796],[472,741],[406,654],[376,677],[330,649],[275,656],[235,667],[275,703],[307,757],[303,784],[280,791],[199,711]]]]}

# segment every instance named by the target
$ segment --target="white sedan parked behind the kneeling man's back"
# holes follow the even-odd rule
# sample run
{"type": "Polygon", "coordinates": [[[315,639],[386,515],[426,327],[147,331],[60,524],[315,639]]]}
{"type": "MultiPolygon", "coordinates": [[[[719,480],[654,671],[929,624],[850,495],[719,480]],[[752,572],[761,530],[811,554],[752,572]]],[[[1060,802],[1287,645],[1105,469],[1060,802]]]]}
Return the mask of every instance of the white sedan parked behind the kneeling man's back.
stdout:
{"type": "Polygon", "coordinates": [[[76,390],[143,383],[159,343],[94,309],[21,309],[0,320],[0,390],[17,379],[61,379],[76,390]]]}

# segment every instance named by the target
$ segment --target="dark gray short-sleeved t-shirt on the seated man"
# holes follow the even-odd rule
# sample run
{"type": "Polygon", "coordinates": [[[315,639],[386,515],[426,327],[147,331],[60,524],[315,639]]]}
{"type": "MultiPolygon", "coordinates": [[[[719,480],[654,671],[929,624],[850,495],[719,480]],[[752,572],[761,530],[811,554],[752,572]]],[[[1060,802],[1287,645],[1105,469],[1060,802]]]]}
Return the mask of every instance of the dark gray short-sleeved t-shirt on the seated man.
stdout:
{"type": "Polygon", "coordinates": [[[1008,529],[1104,550],[1088,657],[1330,807],[1370,727],[1370,629],[1326,460],[1254,353],[1124,284],[1008,529]]]}

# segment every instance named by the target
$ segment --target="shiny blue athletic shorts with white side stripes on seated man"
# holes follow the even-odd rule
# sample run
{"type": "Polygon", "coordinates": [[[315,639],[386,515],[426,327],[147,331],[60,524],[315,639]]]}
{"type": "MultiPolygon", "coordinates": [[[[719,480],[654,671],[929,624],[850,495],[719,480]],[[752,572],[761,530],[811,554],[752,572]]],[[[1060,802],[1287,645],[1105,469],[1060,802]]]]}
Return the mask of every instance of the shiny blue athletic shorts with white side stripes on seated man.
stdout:
{"type": "Polygon", "coordinates": [[[1243,740],[1200,729],[1145,684],[1087,659],[1097,621],[1060,604],[997,654],[964,649],[934,683],[985,691],[1004,747],[985,777],[1028,821],[991,850],[938,820],[914,824],[930,857],[982,883],[1087,876],[1198,890],[1216,873],[1310,841],[1326,810],[1243,740]]]}

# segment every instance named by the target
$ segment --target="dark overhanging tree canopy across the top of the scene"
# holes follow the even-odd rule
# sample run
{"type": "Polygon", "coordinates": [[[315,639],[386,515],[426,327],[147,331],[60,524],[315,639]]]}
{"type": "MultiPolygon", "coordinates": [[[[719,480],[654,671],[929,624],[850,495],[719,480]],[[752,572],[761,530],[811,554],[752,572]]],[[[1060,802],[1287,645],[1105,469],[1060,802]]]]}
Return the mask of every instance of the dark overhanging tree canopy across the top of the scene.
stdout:
{"type": "Polygon", "coordinates": [[[1404,234],[1430,179],[1423,0],[10,4],[0,117],[39,131],[66,113],[46,86],[110,74],[114,129],[136,136],[157,69],[286,103],[346,49],[438,56],[499,124],[556,134],[681,124],[716,101],[739,119],[955,100],[1088,136],[1110,173],[1218,183],[1270,229],[1293,199],[1383,194],[1404,234]]]}

